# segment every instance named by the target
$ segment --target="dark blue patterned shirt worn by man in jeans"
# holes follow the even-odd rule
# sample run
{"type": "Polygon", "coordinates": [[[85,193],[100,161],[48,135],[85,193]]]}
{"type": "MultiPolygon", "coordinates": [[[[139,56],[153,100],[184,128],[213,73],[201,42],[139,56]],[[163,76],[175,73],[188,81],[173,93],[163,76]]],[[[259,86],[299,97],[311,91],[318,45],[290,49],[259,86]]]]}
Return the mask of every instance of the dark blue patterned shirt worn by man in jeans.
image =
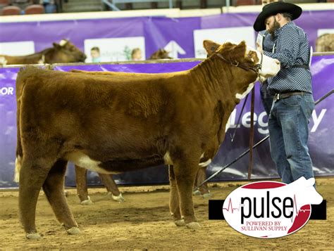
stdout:
{"type": "Polygon", "coordinates": [[[293,67],[309,64],[307,34],[294,22],[288,22],[275,31],[275,38],[273,52],[264,51],[264,55],[278,59],[281,69],[278,75],[268,79],[268,91],[305,91],[311,94],[311,72],[301,67],[293,67]]]}

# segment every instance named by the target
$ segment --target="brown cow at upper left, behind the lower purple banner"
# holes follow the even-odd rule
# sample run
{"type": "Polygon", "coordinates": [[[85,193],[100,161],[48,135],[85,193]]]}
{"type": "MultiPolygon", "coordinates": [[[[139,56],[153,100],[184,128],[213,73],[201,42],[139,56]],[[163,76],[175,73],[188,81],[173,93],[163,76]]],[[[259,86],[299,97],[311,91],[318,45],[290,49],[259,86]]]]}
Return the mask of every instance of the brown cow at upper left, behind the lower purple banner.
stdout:
{"type": "Polygon", "coordinates": [[[0,64],[26,65],[37,63],[78,63],[85,62],[85,53],[80,51],[68,40],[61,40],[59,44],[53,43],[53,47],[27,56],[0,55],[0,64]]]}

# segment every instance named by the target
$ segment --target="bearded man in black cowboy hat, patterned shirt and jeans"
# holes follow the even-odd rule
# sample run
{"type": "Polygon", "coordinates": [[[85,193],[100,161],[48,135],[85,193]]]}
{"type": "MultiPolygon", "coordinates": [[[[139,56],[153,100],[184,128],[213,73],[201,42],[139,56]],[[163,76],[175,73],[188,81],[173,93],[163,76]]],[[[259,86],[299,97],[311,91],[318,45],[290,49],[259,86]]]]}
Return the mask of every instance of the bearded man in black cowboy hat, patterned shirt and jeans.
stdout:
{"type": "Polygon", "coordinates": [[[282,181],[289,184],[304,176],[314,176],[307,148],[308,122],[314,109],[309,70],[309,41],[292,20],[302,8],[295,4],[266,4],[254,22],[257,32],[267,30],[274,39],[273,51],[261,51],[281,63],[278,75],[268,79],[274,94],[268,120],[271,157],[282,181]]]}

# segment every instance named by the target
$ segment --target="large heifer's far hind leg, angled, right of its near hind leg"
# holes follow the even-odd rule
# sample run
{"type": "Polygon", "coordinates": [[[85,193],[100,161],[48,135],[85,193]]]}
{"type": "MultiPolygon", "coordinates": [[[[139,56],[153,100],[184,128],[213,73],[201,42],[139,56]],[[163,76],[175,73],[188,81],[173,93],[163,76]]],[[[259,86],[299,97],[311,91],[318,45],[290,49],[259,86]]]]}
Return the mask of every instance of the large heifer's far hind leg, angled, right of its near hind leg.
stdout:
{"type": "Polygon", "coordinates": [[[66,166],[66,160],[58,160],[54,164],[43,184],[43,190],[58,221],[69,234],[77,234],[80,233],[78,224],[75,222],[63,193],[66,166]]]}

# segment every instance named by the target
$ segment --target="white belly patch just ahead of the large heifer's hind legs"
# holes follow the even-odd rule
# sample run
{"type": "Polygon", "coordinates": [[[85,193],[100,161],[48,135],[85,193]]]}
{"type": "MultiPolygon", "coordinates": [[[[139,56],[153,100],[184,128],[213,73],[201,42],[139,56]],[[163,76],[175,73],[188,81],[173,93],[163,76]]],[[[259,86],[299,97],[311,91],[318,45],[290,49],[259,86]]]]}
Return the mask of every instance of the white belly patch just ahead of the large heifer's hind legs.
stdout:
{"type": "Polygon", "coordinates": [[[99,167],[101,164],[100,161],[92,160],[88,155],[85,155],[81,152],[73,152],[68,153],[66,155],[66,159],[70,162],[73,162],[75,165],[78,165],[79,167],[89,169],[93,172],[99,172],[100,174],[113,174],[116,172],[108,172],[105,169],[99,167]]]}

